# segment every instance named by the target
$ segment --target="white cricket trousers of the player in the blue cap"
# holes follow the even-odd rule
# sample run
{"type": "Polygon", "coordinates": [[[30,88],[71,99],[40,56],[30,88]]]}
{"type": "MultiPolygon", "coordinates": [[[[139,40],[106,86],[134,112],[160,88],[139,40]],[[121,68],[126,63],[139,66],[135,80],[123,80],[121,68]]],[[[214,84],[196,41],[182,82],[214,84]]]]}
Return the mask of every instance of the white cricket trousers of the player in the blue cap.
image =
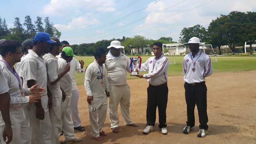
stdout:
{"type": "Polygon", "coordinates": [[[29,109],[29,126],[30,126],[30,143],[32,144],[49,144],[51,143],[52,125],[48,110],[48,96],[43,95],[41,98],[45,118],[39,120],[36,118],[36,107],[32,104],[29,109]]]}

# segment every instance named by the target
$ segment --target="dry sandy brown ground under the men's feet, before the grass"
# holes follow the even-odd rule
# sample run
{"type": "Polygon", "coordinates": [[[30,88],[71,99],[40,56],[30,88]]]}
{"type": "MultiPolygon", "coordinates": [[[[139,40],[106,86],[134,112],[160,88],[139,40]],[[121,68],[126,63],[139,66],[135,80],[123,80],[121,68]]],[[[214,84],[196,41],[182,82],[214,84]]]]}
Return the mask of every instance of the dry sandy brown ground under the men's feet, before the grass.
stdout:
{"type": "MultiPolygon", "coordinates": [[[[145,79],[128,81],[131,90],[130,117],[138,127],[125,126],[119,110],[119,133],[112,133],[107,119],[103,141],[91,138],[88,104],[83,86],[79,86],[79,112],[84,132],[75,130],[83,139],[79,143],[256,143],[256,71],[214,73],[206,79],[209,134],[198,138],[198,113],[195,108],[195,127],[190,134],[182,133],[186,124],[186,101],[183,76],[168,78],[167,129],[162,135],[158,129],[158,113],[155,130],[142,133],[146,126],[148,82],[145,79]]],[[[61,137],[63,139],[63,136],[61,137]]],[[[78,143],[77,143],[78,144],[78,143]]]]}

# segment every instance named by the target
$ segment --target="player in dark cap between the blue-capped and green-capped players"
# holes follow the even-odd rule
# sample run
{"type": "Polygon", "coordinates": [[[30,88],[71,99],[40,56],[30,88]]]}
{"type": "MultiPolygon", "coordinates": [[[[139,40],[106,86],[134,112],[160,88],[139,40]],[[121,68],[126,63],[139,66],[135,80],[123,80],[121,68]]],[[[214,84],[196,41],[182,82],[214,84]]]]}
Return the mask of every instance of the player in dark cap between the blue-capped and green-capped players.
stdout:
{"type": "Polygon", "coordinates": [[[52,144],[59,143],[59,136],[61,134],[61,101],[66,97],[66,94],[61,90],[59,86],[59,80],[70,70],[70,65],[67,63],[62,73],[58,74],[58,61],[56,55],[59,54],[59,50],[63,43],[58,38],[51,37],[56,43],[51,44],[48,54],[43,56],[47,66],[47,87],[48,95],[50,94],[53,99],[53,106],[49,110],[51,124],[52,124],[52,144]]]}

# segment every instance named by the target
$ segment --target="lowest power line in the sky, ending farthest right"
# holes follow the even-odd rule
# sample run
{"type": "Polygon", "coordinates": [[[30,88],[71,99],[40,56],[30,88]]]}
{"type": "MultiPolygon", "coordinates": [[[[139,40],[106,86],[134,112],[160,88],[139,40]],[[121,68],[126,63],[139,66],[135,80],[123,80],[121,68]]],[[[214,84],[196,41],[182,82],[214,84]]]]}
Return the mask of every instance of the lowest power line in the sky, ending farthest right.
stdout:
{"type": "MultiPolygon", "coordinates": [[[[191,9],[187,9],[187,10],[184,10],[184,11],[181,11],[181,12],[178,12],[178,13],[175,13],[175,14],[173,14],[173,15],[176,15],[176,14],[179,14],[179,13],[183,13],[183,12],[185,12],[185,11],[189,11],[189,10],[196,9],[196,8],[198,8],[198,7],[201,7],[201,6],[203,6],[203,5],[206,5],[206,4],[208,4],[208,3],[210,3],[210,2],[213,2],[213,1],[215,1],[215,0],[206,2],[206,3],[202,4],[202,5],[199,5],[199,6],[197,6],[197,7],[193,7],[193,8],[191,8],[191,9]]],[[[170,16],[165,17],[165,18],[163,18],[163,19],[161,19],[161,20],[159,20],[159,21],[156,21],[156,22],[153,22],[153,23],[144,25],[144,26],[136,27],[136,28],[133,28],[133,29],[130,29],[130,30],[125,30],[125,31],[122,31],[122,32],[119,32],[119,33],[115,33],[115,34],[120,34],[120,33],[126,32],[126,31],[131,31],[131,30],[139,29],[139,28],[141,28],[141,27],[146,27],[146,26],[152,25],[152,24],[154,24],[154,23],[160,22],[160,21],[162,21],[162,20],[164,20],[164,19],[166,19],[166,18],[170,18],[170,17],[172,17],[173,15],[170,15],[170,16]]],[[[166,26],[164,26],[164,27],[166,27],[166,26]]],[[[115,35],[115,34],[111,34],[111,35],[115,35]]],[[[108,36],[111,36],[111,35],[106,35],[106,36],[99,37],[99,38],[104,38],[104,37],[108,37],[108,36]]],[[[89,38],[89,37],[88,37],[88,38],[89,38]]],[[[98,38],[94,38],[94,39],[98,39],[98,38]]],[[[89,40],[94,40],[94,39],[89,39],[89,40]]],[[[82,40],[80,40],[80,41],[82,41],[82,40]]]]}

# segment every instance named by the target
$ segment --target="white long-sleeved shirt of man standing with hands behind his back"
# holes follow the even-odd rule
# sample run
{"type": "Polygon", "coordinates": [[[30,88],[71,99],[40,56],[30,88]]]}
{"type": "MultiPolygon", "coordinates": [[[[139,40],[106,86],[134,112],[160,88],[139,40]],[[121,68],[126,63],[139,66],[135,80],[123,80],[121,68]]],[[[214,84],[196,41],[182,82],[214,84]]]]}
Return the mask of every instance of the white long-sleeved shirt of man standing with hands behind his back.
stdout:
{"type": "Polygon", "coordinates": [[[183,59],[184,81],[187,83],[198,83],[205,81],[213,73],[211,58],[201,50],[193,57],[192,53],[187,54],[183,59]]]}

